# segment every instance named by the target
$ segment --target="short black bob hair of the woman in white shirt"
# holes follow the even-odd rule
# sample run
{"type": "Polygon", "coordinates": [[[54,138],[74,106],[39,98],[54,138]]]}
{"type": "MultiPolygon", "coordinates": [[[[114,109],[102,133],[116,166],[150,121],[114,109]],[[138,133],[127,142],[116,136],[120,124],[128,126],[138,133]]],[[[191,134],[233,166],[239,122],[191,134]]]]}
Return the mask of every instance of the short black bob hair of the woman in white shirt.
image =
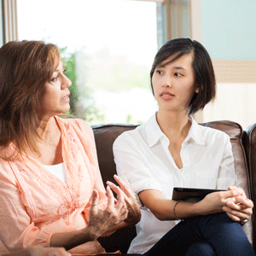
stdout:
{"type": "Polygon", "coordinates": [[[176,61],[183,55],[190,53],[193,55],[192,67],[195,74],[195,88],[199,87],[199,92],[195,93],[189,103],[189,114],[192,114],[199,109],[203,109],[216,95],[216,81],[212,61],[207,50],[200,43],[189,38],[177,38],[164,44],[154,57],[154,63],[150,71],[150,81],[154,94],[152,77],[155,68],[172,56],[173,58],[167,63],[176,61]]]}

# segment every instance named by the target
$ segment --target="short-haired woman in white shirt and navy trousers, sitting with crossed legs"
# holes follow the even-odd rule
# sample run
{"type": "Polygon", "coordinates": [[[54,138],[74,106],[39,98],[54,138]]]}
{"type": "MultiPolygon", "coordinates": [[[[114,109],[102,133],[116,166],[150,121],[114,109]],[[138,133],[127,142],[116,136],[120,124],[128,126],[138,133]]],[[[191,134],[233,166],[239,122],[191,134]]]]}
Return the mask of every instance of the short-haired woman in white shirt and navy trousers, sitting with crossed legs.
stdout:
{"type": "Polygon", "coordinates": [[[158,111],[113,144],[119,176],[130,183],[142,212],[128,252],[254,255],[240,224],[253,202],[236,187],[230,137],[190,115],[215,96],[207,50],[189,38],[171,40],[155,56],[150,77],[158,111]],[[227,191],[199,202],[174,201],[174,187],[227,191]]]}

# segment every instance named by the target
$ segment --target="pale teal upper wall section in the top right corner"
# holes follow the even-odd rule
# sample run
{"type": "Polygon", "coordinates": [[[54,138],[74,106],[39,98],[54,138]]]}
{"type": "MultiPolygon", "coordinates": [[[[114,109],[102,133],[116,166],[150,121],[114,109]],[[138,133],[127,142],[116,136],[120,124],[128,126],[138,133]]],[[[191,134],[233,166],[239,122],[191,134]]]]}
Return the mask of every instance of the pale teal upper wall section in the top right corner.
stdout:
{"type": "Polygon", "coordinates": [[[201,43],[215,60],[256,60],[256,0],[201,0],[201,43]]]}

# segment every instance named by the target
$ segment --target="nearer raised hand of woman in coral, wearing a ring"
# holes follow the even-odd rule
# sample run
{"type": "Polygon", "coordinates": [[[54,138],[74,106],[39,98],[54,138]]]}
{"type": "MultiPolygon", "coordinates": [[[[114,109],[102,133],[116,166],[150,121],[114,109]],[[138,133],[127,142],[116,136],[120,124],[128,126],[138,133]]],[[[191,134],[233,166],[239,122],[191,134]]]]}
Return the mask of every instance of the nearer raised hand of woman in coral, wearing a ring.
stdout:
{"type": "Polygon", "coordinates": [[[104,210],[97,207],[98,193],[96,190],[92,192],[92,201],[89,213],[88,228],[95,239],[101,236],[109,228],[124,221],[127,218],[128,211],[125,204],[124,193],[121,189],[115,190],[117,200],[113,196],[113,192],[107,187],[108,205],[104,210]]]}

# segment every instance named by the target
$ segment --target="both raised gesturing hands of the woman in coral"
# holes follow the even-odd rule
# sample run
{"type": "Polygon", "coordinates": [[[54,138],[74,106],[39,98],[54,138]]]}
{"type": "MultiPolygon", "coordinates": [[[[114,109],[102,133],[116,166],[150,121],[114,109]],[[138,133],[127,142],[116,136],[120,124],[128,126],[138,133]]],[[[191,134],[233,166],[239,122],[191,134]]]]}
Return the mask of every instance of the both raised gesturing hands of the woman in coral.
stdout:
{"type": "Polygon", "coordinates": [[[107,236],[108,230],[111,230],[114,225],[120,224],[121,222],[125,222],[126,226],[137,224],[141,218],[140,209],[131,189],[117,175],[114,175],[114,179],[119,183],[119,186],[116,186],[112,182],[107,182],[106,195],[108,197],[108,204],[104,210],[97,207],[97,191],[93,190],[92,192],[88,226],[97,237],[107,236]],[[112,190],[116,193],[116,198],[112,190]]]}

